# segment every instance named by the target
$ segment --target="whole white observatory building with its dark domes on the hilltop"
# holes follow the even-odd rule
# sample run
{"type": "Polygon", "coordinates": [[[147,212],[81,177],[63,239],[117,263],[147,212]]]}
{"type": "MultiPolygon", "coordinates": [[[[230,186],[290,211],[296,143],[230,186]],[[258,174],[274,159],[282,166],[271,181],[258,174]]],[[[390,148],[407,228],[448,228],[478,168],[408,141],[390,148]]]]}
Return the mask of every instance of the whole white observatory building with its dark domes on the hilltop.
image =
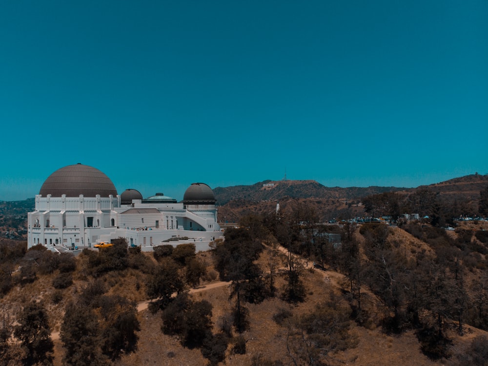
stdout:
{"type": "Polygon", "coordinates": [[[188,238],[197,251],[222,237],[216,200],[204,183],[193,183],[183,201],[157,193],[143,198],[135,189],[118,194],[110,178],[96,168],[75,164],[53,172],[28,213],[27,245],[93,247],[123,237],[142,250],[164,241],[188,238]]]}

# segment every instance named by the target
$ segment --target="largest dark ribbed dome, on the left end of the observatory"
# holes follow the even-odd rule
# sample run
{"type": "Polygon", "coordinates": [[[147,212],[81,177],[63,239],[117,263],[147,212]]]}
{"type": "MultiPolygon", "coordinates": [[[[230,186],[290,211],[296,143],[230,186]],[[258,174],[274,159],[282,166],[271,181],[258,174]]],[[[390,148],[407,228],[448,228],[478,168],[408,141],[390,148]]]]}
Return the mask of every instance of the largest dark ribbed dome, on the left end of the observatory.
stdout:
{"type": "Polygon", "coordinates": [[[117,190],[108,176],[96,168],[88,165],[75,164],[58,169],[42,184],[39,194],[53,197],[78,197],[83,194],[85,197],[108,197],[110,194],[117,196],[117,190]]]}

